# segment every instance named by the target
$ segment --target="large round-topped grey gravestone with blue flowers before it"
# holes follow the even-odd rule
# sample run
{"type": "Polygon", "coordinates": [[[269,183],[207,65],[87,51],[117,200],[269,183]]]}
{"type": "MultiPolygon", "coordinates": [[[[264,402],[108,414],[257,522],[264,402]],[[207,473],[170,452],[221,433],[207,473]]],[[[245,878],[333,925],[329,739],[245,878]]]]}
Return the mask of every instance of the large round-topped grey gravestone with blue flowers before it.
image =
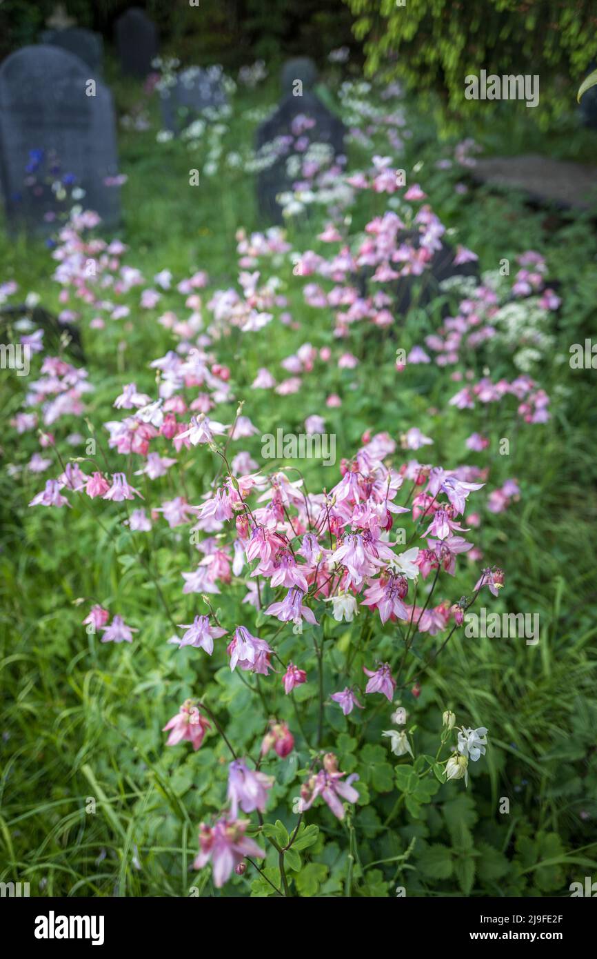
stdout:
{"type": "Polygon", "coordinates": [[[118,173],[112,97],[88,73],[82,60],[44,45],[0,66],[0,185],[11,231],[56,229],[71,188],[84,190],[80,204],[106,226],[119,221],[119,190],[104,182],[118,173]]]}

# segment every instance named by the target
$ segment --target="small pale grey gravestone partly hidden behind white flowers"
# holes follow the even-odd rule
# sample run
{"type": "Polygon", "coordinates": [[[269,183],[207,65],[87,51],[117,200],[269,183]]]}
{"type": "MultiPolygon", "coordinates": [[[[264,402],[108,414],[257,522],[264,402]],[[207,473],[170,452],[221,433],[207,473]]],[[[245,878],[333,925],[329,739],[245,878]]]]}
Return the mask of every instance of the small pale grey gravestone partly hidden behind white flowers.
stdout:
{"type": "Polygon", "coordinates": [[[228,98],[222,81],[220,66],[192,66],[178,73],[173,84],[160,94],[164,127],[178,133],[202,110],[226,105],[228,98]]]}

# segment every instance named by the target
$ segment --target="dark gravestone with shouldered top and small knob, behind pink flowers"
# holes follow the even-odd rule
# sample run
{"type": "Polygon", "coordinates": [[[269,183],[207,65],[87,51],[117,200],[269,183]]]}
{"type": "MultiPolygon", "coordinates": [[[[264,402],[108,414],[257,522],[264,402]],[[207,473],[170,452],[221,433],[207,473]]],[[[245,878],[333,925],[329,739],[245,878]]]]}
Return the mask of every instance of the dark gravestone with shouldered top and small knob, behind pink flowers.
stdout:
{"type": "Polygon", "coordinates": [[[328,144],[333,156],[339,156],[344,153],[344,133],[342,121],[309,91],[302,96],[290,93],[284,98],[275,113],[257,130],[258,154],[264,158],[269,154],[269,163],[257,178],[257,198],[265,220],[283,222],[282,208],[276,197],[292,187],[295,177],[287,173],[287,159],[296,152],[297,141],[307,137],[311,144],[328,144]],[[301,117],[306,117],[313,125],[303,133],[297,133],[295,121],[301,117]]]}

